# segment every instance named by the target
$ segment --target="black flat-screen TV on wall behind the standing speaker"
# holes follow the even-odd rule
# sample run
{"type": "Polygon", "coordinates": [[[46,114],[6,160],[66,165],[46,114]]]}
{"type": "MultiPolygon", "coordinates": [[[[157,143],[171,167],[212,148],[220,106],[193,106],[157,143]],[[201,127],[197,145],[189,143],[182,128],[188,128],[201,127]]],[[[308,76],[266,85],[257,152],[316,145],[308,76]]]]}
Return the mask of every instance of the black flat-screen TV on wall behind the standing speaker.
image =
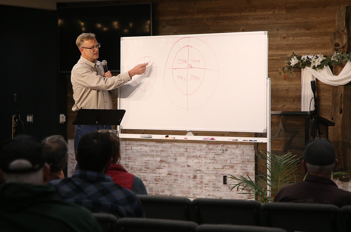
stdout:
{"type": "Polygon", "coordinates": [[[58,7],[57,18],[60,73],[71,73],[80,59],[75,41],[81,33],[96,35],[98,60],[106,60],[111,72],[120,72],[121,37],[152,35],[151,3],[58,7]]]}

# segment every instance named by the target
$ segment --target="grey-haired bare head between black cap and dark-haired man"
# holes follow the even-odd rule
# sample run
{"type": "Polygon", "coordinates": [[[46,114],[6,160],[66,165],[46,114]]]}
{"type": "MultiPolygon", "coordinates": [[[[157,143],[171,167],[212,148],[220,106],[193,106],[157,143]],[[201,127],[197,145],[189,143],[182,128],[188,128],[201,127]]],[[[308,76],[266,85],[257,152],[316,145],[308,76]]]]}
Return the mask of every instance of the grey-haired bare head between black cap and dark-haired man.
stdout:
{"type": "Polygon", "coordinates": [[[45,138],[41,144],[47,163],[50,165],[50,172],[59,174],[68,160],[68,145],[65,138],[61,135],[52,135],[45,138]]]}

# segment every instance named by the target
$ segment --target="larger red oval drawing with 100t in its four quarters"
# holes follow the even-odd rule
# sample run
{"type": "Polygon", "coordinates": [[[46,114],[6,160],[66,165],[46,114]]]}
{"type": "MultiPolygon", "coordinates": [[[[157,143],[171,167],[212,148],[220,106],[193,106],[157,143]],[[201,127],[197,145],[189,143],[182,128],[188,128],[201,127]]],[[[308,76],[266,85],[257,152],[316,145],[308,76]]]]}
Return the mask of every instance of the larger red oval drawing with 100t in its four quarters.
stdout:
{"type": "Polygon", "coordinates": [[[203,40],[184,37],[172,46],[167,57],[164,85],[170,100],[180,108],[202,107],[217,87],[216,54],[203,40]]]}

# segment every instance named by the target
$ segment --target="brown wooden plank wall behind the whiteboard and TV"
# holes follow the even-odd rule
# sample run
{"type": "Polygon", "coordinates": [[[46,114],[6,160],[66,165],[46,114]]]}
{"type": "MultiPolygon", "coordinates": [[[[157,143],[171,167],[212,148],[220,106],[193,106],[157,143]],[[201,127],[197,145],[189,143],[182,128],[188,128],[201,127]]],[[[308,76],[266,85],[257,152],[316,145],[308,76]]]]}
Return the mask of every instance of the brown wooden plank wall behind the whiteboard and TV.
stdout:
{"type": "MultiPolygon", "coordinates": [[[[268,31],[272,111],[301,110],[301,73],[279,74],[284,60],[292,52],[332,53],[330,35],[336,28],[337,7],[351,5],[350,0],[128,0],[84,4],[144,2],[152,3],[153,35],[268,31]]],[[[82,5],[71,5],[74,4],[82,5]]],[[[247,62],[254,68],[260,61],[252,54],[247,62]]],[[[71,122],[75,114],[71,111],[73,99],[69,76],[67,83],[67,121],[71,122]]],[[[317,81],[320,116],[328,120],[332,120],[332,91],[332,86],[317,81]]],[[[74,128],[70,123],[67,131],[67,137],[73,139],[74,128]]]]}

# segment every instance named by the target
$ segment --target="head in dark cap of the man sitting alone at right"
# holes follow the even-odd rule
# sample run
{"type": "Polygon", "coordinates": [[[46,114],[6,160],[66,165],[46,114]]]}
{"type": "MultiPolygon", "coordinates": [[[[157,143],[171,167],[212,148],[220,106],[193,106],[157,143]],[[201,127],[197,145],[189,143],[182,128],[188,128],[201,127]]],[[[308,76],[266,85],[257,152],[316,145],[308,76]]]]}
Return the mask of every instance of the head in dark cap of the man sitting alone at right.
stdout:
{"type": "Polygon", "coordinates": [[[334,146],[328,139],[316,138],[306,143],[303,163],[309,174],[331,177],[337,162],[334,146]]]}

